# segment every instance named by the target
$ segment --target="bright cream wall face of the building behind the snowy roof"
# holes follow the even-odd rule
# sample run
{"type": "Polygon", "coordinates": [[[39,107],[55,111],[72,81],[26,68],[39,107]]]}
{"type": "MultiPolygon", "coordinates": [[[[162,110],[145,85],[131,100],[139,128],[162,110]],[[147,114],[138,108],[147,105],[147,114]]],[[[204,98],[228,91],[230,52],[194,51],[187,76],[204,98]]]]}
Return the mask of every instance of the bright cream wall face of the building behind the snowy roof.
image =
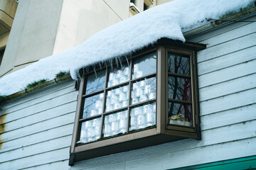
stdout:
{"type": "Polygon", "coordinates": [[[79,45],[98,31],[129,17],[129,0],[65,0],[53,54],[79,45]]]}

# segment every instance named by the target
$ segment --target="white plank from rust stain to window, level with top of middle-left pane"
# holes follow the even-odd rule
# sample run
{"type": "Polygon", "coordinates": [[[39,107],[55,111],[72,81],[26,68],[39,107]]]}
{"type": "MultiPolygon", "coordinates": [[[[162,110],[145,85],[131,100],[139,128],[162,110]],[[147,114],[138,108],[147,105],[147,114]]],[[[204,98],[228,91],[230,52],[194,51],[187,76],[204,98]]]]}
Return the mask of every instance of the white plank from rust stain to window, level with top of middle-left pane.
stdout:
{"type": "Polygon", "coordinates": [[[6,123],[5,132],[16,130],[18,128],[23,128],[28,125],[33,125],[35,123],[38,123],[44,120],[49,120],[51,118],[56,118],[60,115],[65,115],[67,113],[75,112],[76,105],[77,105],[77,102],[73,101],[61,106],[57,106],[55,108],[50,108],[49,110],[46,110],[46,111],[42,111],[33,115],[28,115],[18,120],[11,121],[9,123],[6,123]]]}

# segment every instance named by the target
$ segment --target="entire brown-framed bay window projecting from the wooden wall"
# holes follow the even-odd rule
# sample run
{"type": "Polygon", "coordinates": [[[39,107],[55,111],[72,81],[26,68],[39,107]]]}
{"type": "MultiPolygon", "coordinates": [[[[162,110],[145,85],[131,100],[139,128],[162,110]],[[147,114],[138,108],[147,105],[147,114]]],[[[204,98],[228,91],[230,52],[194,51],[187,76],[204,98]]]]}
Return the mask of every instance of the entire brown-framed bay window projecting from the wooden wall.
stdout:
{"type": "Polygon", "coordinates": [[[195,52],[204,48],[160,40],[129,60],[84,74],[70,165],[188,137],[200,139],[195,52]]]}

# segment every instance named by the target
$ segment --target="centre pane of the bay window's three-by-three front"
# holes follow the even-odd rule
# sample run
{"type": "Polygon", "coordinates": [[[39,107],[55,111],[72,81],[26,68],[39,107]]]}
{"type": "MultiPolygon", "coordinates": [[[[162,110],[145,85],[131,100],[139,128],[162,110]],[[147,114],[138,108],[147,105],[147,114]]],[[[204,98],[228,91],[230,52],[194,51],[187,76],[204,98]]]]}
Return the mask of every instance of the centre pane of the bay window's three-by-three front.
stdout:
{"type": "Polygon", "coordinates": [[[119,86],[107,91],[106,112],[128,106],[129,86],[119,86]]]}

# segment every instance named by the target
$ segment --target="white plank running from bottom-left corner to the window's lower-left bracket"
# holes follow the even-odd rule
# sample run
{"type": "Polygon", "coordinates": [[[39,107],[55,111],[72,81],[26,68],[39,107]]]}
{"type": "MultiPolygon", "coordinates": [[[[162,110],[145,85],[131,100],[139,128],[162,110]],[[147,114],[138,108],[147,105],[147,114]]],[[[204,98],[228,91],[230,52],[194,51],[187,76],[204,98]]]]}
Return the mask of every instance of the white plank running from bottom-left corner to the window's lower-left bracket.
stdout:
{"type": "Polygon", "coordinates": [[[36,154],[31,157],[24,157],[23,159],[16,159],[11,162],[4,162],[0,164],[1,170],[9,169],[25,169],[31,166],[38,166],[41,164],[50,164],[51,162],[65,161],[69,159],[70,148],[63,148],[46,152],[43,154],[36,154]]]}

